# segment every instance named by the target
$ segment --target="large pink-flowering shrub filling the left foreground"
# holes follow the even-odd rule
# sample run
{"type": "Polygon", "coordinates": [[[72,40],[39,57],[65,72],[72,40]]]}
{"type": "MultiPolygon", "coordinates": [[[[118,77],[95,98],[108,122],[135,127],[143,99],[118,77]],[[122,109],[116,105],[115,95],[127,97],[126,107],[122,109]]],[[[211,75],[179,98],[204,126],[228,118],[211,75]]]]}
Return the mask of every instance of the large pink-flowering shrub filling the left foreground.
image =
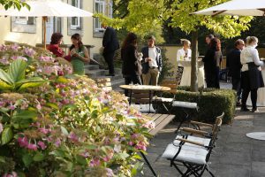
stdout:
{"type": "Polygon", "coordinates": [[[153,122],[45,52],[0,46],[0,175],[135,175],[153,122]]]}

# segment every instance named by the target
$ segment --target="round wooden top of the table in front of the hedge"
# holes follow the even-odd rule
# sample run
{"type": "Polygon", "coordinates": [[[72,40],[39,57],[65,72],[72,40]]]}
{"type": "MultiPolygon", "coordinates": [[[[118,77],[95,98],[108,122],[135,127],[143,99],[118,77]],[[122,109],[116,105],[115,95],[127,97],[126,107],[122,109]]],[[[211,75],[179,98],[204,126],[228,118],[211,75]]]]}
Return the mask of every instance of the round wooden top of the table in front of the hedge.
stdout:
{"type": "Polygon", "coordinates": [[[121,89],[138,89],[138,90],[154,90],[154,91],[168,91],[169,87],[151,86],[151,85],[120,85],[121,89]]]}

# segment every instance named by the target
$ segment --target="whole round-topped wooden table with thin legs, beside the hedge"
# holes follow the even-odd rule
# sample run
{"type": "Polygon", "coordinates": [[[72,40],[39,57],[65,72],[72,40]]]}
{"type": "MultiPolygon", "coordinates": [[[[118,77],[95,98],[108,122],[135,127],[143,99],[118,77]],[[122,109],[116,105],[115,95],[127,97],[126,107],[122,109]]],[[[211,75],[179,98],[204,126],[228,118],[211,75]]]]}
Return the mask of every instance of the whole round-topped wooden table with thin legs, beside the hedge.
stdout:
{"type": "Polygon", "coordinates": [[[132,93],[133,90],[148,90],[149,91],[149,112],[151,109],[151,102],[152,102],[152,91],[169,91],[169,87],[163,86],[151,86],[151,85],[121,85],[119,86],[121,89],[128,89],[129,90],[129,104],[132,103],[132,93]]]}

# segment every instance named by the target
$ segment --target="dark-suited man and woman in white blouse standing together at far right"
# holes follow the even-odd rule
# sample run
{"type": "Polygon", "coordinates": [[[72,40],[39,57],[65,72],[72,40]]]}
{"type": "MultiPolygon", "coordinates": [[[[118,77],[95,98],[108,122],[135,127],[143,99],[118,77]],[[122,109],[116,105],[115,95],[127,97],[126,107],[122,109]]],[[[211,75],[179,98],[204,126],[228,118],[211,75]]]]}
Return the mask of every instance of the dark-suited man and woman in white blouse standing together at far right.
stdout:
{"type": "Polygon", "coordinates": [[[235,49],[231,50],[227,56],[232,89],[237,91],[241,112],[250,111],[246,107],[249,92],[251,93],[252,112],[257,112],[257,90],[264,87],[261,74],[261,66],[264,66],[264,61],[261,60],[258,50],[255,49],[258,42],[257,37],[248,36],[244,48],[245,42],[239,39],[235,42],[235,49]]]}

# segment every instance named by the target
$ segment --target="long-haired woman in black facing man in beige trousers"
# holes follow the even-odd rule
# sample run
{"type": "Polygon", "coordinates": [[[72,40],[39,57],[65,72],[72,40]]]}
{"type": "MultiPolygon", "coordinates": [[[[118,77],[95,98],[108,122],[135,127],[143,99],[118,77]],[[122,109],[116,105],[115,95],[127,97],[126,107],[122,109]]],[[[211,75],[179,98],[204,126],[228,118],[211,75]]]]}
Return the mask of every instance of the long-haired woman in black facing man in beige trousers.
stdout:
{"type": "MultiPolygon", "coordinates": [[[[141,64],[137,52],[137,35],[129,33],[125,37],[121,48],[121,59],[123,61],[122,73],[125,78],[125,84],[140,84],[141,64]]],[[[125,89],[125,96],[128,96],[128,90],[125,89]]]]}

